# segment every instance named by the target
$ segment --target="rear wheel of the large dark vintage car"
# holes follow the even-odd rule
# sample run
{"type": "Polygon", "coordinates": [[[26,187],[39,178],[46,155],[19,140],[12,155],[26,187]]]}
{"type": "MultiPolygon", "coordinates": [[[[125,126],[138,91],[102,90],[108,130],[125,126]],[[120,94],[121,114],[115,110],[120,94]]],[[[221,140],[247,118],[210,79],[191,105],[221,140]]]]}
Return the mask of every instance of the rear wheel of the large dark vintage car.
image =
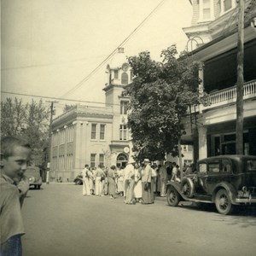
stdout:
{"type": "Polygon", "coordinates": [[[234,210],[230,195],[226,189],[219,189],[215,196],[215,206],[220,214],[228,215],[234,210]]]}

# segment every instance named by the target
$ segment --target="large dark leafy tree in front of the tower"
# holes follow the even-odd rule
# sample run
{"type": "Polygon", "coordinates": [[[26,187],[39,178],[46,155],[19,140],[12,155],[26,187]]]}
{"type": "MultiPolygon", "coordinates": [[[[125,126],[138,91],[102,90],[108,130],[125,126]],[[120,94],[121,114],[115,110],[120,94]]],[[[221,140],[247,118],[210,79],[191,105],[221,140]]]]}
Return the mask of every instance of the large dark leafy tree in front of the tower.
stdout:
{"type": "Polygon", "coordinates": [[[131,97],[128,126],[137,160],[177,155],[181,120],[189,105],[198,103],[200,63],[185,54],[177,60],[176,55],[172,45],[162,50],[162,61],[153,61],[148,51],[128,58],[135,77],[125,93],[131,97]]]}

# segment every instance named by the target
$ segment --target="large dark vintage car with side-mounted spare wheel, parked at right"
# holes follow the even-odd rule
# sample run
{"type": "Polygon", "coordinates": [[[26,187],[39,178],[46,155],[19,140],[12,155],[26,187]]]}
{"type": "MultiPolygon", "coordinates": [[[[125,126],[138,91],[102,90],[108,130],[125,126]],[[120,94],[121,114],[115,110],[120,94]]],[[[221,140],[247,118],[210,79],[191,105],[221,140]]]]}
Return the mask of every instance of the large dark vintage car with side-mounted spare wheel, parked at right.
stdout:
{"type": "Polygon", "coordinates": [[[230,214],[235,205],[256,203],[256,156],[219,155],[199,160],[197,171],[180,183],[169,182],[166,200],[214,203],[218,212],[230,214]]]}

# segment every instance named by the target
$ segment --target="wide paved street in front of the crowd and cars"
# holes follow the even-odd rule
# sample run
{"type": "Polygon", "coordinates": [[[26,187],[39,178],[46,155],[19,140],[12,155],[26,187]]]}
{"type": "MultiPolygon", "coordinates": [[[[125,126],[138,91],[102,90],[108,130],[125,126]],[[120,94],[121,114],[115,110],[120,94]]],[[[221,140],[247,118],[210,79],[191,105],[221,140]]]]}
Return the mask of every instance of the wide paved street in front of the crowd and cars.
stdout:
{"type": "Polygon", "coordinates": [[[125,205],[123,198],[82,196],[82,186],[44,184],[23,206],[24,256],[255,255],[256,211],[125,205]]]}

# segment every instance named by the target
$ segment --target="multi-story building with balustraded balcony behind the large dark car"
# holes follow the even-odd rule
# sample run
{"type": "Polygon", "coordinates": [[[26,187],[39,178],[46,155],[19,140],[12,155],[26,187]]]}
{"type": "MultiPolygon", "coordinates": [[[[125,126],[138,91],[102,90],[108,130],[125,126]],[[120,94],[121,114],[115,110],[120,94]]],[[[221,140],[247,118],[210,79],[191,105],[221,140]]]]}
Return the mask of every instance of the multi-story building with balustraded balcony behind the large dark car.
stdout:
{"type": "MultiPolygon", "coordinates": [[[[183,28],[188,49],[201,61],[199,90],[207,102],[183,119],[183,143],[194,159],[236,154],[237,22],[235,0],[192,0],[191,26],[183,28]]],[[[256,1],[244,1],[243,153],[256,155],[256,1]]]]}

